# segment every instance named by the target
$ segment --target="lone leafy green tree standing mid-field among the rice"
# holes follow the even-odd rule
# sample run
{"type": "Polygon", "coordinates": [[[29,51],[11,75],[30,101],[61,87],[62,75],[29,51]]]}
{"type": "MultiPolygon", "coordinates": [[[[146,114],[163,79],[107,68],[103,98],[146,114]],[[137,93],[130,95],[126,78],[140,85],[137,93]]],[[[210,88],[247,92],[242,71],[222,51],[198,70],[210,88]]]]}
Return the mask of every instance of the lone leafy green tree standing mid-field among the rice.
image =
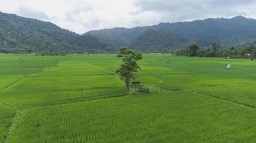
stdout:
{"type": "Polygon", "coordinates": [[[116,69],[116,74],[119,74],[120,78],[124,80],[126,89],[129,92],[131,79],[134,79],[135,74],[140,69],[137,61],[142,59],[142,54],[128,50],[126,47],[121,47],[117,57],[122,58],[122,64],[119,69],[116,69]]]}

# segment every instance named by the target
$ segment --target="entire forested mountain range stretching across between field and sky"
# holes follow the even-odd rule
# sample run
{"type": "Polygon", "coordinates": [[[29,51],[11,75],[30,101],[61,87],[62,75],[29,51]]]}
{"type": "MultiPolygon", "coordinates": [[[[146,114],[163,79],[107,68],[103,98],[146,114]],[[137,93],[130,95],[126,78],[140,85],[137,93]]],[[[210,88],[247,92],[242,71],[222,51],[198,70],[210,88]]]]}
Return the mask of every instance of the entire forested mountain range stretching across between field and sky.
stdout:
{"type": "Polygon", "coordinates": [[[160,52],[186,47],[194,41],[201,46],[217,41],[222,47],[255,42],[256,20],[236,16],[132,29],[103,29],[79,35],[50,22],[0,13],[1,52],[114,52],[119,46],[160,52]]]}

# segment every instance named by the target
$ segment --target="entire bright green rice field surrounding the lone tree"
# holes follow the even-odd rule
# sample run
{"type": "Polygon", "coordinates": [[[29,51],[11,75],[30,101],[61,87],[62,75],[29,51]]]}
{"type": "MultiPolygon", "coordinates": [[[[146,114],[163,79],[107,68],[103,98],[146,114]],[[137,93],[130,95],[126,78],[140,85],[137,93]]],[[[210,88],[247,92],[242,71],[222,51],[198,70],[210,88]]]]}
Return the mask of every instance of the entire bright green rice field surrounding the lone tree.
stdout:
{"type": "Polygon", "coordinates": [[[0,142],[256,142],[254,61],[145,54],[135,95],[119,64],[0,54],[0,142]]]}

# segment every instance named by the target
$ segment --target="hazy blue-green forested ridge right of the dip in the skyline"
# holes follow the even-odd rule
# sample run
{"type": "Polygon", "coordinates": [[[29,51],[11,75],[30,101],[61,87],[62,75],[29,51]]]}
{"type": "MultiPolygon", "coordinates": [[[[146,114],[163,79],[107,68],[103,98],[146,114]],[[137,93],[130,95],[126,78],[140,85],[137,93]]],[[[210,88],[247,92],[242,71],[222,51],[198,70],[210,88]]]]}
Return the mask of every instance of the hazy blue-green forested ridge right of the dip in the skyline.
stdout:
{"type": "Polygon", "coordinates": [[[124,46],[142,51],[164,51],[177,46],[187,46],[193,41],[201,46],[209,46],[213,41],[219,42],[221,46],[242,46],[256,41],[256,20],[236,16],[232,19],[161,23],[133,29],[104,29],[89,31],[86,34],[119,41],[124,46]],[[148,30],[151,30],[151,34],[148,30]],[[152,31],[155,34],[152,34],[152,31]]]}

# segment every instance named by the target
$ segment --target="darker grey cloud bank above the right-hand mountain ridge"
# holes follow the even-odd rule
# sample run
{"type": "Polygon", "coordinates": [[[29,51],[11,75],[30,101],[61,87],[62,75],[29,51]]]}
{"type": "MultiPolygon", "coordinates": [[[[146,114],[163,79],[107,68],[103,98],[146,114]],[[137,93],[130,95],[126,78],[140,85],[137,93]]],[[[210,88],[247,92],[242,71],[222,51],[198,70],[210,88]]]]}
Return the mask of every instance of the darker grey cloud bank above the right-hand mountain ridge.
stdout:
{"type": "Polygon", "coordinates": [[[209,17],[256,17],[255,0],[134,0],[142,11],[154,11],[165,21],[188,21],[209,17]]]}

